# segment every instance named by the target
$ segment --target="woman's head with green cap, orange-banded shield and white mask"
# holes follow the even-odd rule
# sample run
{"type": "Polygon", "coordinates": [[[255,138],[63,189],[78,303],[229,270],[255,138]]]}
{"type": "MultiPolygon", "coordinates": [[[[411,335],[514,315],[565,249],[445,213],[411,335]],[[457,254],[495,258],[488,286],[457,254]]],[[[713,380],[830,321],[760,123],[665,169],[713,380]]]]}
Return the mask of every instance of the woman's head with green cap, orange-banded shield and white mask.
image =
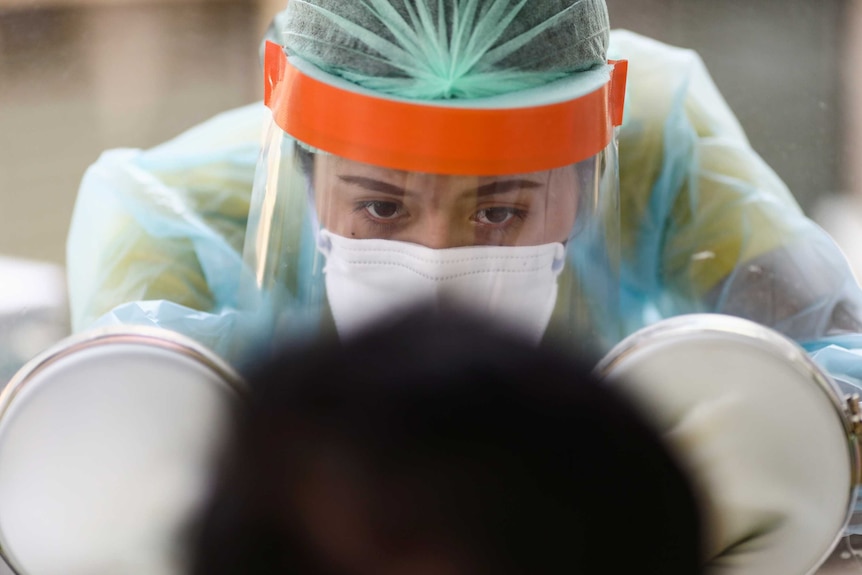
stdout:
{"type": "Polygon", "coordinates": [[[603,0],[304,0],[274,32],[258,286],[328,308],[342,335],[454,299],[538,341],[565,269],[561,331],[616,322],[625,66],[607,62],[603,0]]]}

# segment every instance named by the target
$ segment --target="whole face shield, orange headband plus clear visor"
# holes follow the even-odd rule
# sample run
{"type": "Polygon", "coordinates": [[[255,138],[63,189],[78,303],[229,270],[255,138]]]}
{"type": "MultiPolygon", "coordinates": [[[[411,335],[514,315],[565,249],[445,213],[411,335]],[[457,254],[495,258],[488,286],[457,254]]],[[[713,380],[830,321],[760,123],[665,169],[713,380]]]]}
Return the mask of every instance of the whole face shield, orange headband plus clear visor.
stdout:
{"type": "Polygon", "coordinates": [[[266,49],[241,302],[280,336],[417,305],[538,342],[621,335],[615,130],[625,62],[542,88],[409,101],[266,49]]]}

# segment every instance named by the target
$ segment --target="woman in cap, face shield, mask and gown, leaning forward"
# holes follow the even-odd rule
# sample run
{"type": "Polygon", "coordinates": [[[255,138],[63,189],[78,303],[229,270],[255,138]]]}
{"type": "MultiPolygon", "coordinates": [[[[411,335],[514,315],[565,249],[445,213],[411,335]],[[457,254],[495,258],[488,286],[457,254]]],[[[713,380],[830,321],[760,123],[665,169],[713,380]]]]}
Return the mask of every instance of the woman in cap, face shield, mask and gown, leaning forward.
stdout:
{"type": "Polygon", "coordinates": [[[601,352],[717,312],[862,388],[862,291],[696,54],[611,32],[603,0],[291,0],[270,39],[266,106],[88,170],[76,330],[238,361],[434,301],[601,352]]]}

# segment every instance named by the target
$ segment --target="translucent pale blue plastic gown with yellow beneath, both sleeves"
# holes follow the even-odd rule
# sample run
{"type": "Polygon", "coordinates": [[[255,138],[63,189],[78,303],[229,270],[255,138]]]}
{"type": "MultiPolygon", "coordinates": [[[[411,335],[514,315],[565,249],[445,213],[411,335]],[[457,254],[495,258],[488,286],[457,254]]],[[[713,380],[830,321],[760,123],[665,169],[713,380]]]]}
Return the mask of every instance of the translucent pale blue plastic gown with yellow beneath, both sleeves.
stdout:
{"type": "MultiPolygon", "coordinates": [[[[627,31],[611,33],[611,55],[629,60],[619,133],[624,331],[691,312],[738,315],[803,344],[845,389],[862,389],[862,292],[751,148],[700,58],[627,31]]],[[[107,151],[87,171],[68,242],[76,331],[157,325],[231,361],[254,345],[238,291],[268,115],[262,104],[226,112],[150,150],[107,151]]],[[[735,515],[710,554],[761,520],[757,510],[735,515]]]]}

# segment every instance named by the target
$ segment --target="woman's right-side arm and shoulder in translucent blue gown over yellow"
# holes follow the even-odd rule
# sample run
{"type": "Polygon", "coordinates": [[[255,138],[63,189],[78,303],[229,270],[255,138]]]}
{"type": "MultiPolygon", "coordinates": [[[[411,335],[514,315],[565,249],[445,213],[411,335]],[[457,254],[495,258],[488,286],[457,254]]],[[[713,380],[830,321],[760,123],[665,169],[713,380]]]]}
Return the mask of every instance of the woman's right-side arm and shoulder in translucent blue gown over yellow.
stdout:
{"type": "Polygon", "coordinates": [[[612,45],[631,70],[620,134],[630,305],[737,315],[798,341],[862,331],[843,254],[751,148],[700,58],[626,32],[612,45]]]}

